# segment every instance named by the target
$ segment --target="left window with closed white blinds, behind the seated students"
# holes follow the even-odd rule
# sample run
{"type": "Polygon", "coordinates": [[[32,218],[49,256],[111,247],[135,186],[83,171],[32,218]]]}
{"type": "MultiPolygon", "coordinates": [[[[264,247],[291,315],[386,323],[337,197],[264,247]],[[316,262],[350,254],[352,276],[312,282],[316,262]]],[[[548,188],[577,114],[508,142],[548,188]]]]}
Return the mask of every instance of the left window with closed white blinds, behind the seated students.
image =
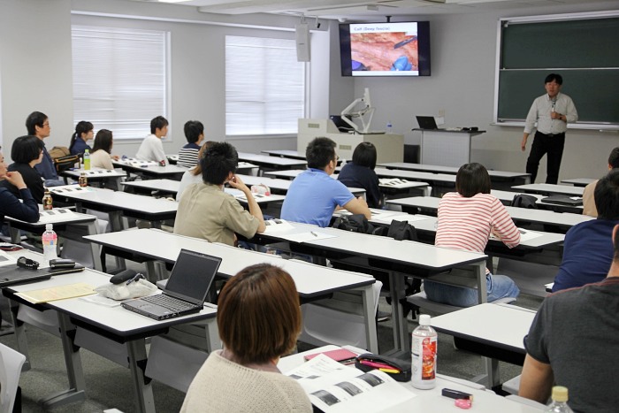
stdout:
{"type": "Polygon", "coordinates": [[[115,140],[143,138],[166,116],[167,33],[73,26],[73,120],[110,129],[115,140]]]}

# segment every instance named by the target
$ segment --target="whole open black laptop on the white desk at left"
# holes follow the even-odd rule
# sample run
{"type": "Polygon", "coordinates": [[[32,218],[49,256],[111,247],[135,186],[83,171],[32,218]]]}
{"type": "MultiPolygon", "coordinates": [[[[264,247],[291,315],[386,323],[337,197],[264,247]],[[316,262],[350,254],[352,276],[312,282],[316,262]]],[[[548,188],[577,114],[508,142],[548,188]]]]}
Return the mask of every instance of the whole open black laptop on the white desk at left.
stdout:
{"type": "Polygon", "coordinates": [[[218,272],[221,258],[181,249],[162,294],[122,302],[126,310],[164,320],[203,309],[206,294],[218,272]]]}

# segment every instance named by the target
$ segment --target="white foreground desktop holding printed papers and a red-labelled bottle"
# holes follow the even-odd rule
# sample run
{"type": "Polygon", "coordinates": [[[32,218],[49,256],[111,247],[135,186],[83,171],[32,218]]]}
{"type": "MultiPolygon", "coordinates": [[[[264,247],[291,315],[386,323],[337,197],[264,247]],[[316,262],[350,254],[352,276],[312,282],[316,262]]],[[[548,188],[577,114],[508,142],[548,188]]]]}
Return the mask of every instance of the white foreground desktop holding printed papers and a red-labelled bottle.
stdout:
{"type": "MultiPolygon", "coordinates": [[[[485,304],[482,304],[485,305],[485,304]]],[[[478,307],[478,306],[476,306],[478,307]]],[[[351,351],[355,351],[355,348],[349,348],[345,346],[351,351]]],[[[293,370],[294,368],[302,365],[304,362],[303,356],[316,354],[320,352],[337,350],[340,347],[337,346],[325,346],[321,348],[314,348],[309,351],[304,351],[302,353],[298,353],[292,356],[282,357],[279,359],[278,369],[282,373],[286,374],[288,371],[293,370]]],[[[356,351],[359,352],[358,350],[356,351]]],[[[440,358],[438,361],[438,365],[440,368],[440,358]]],[[[410,382],[401,383],[401,386],[409,390],[411,393],[417,395],[414,399],[411,399],[407,402],[403,402],[397,406],[394,406],[390,409],[382,410],[383,413],[413,413],[413,412],[458,412],[462,411],[462,409],[458,409],[455,407],[454,399],[449,399],[447,397],[443,397],[440,392],[443,388],[451,388],[454,390],[459,390],[465,393],[474,394],[475,401],[473,402],[473,407],[470,409],[471,412],[474,413],[540,413],[543,411],[542,409],[537,409],[531,406],[524,405],[519,402],[514,402],[512,400],[506,399],[505,397],[501,397],[497,394],[493,394],[490,392],[486,392],[485,389],[480,389],[475,386],[474,383],[470,383],[471,386],[465,386],[462,384],[463,381],[460,379],[450,378],[448,376],[444,376],[442,374],[437,374],[436,379],[436,387],[432,390],[417,390],[413,386],[410,385],[410,382]]]]}

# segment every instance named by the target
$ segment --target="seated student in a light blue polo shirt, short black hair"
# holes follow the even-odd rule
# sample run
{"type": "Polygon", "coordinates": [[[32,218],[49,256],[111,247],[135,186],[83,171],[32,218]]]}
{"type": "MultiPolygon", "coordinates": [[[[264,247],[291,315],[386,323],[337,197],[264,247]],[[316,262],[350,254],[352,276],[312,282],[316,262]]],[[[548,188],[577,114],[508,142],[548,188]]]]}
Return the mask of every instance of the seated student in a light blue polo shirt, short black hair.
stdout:
{"type": "Polygon", "coordinates": [[[370,208],[363,198],[355,198],[348,187],[329,176],[335,171],[339,158],[335,146],[329,138],[310,141],[305,150],[309,169],[290,184],[281,207],[282,219],[325,227],[329,226],[336,208],[371,218],[370,208]]]}

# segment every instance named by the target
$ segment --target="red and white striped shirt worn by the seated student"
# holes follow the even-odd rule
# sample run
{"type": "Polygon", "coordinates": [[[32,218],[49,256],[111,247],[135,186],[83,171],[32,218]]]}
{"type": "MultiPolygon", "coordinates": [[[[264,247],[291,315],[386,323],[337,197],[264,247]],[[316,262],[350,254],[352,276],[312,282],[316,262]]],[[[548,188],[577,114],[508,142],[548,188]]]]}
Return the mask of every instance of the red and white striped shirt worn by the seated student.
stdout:
{"type": "MultiPolygon", "coordinates": [[[[518,228],[496,197],[477,194],[466,198],[457,192],[449,192],[439,203],[439,226],[434,245],[484,252],[492,227],[510,249],[520,243],[518,228]]],[[[485,272],[489,272],[487,268],[485,272]]]]}

